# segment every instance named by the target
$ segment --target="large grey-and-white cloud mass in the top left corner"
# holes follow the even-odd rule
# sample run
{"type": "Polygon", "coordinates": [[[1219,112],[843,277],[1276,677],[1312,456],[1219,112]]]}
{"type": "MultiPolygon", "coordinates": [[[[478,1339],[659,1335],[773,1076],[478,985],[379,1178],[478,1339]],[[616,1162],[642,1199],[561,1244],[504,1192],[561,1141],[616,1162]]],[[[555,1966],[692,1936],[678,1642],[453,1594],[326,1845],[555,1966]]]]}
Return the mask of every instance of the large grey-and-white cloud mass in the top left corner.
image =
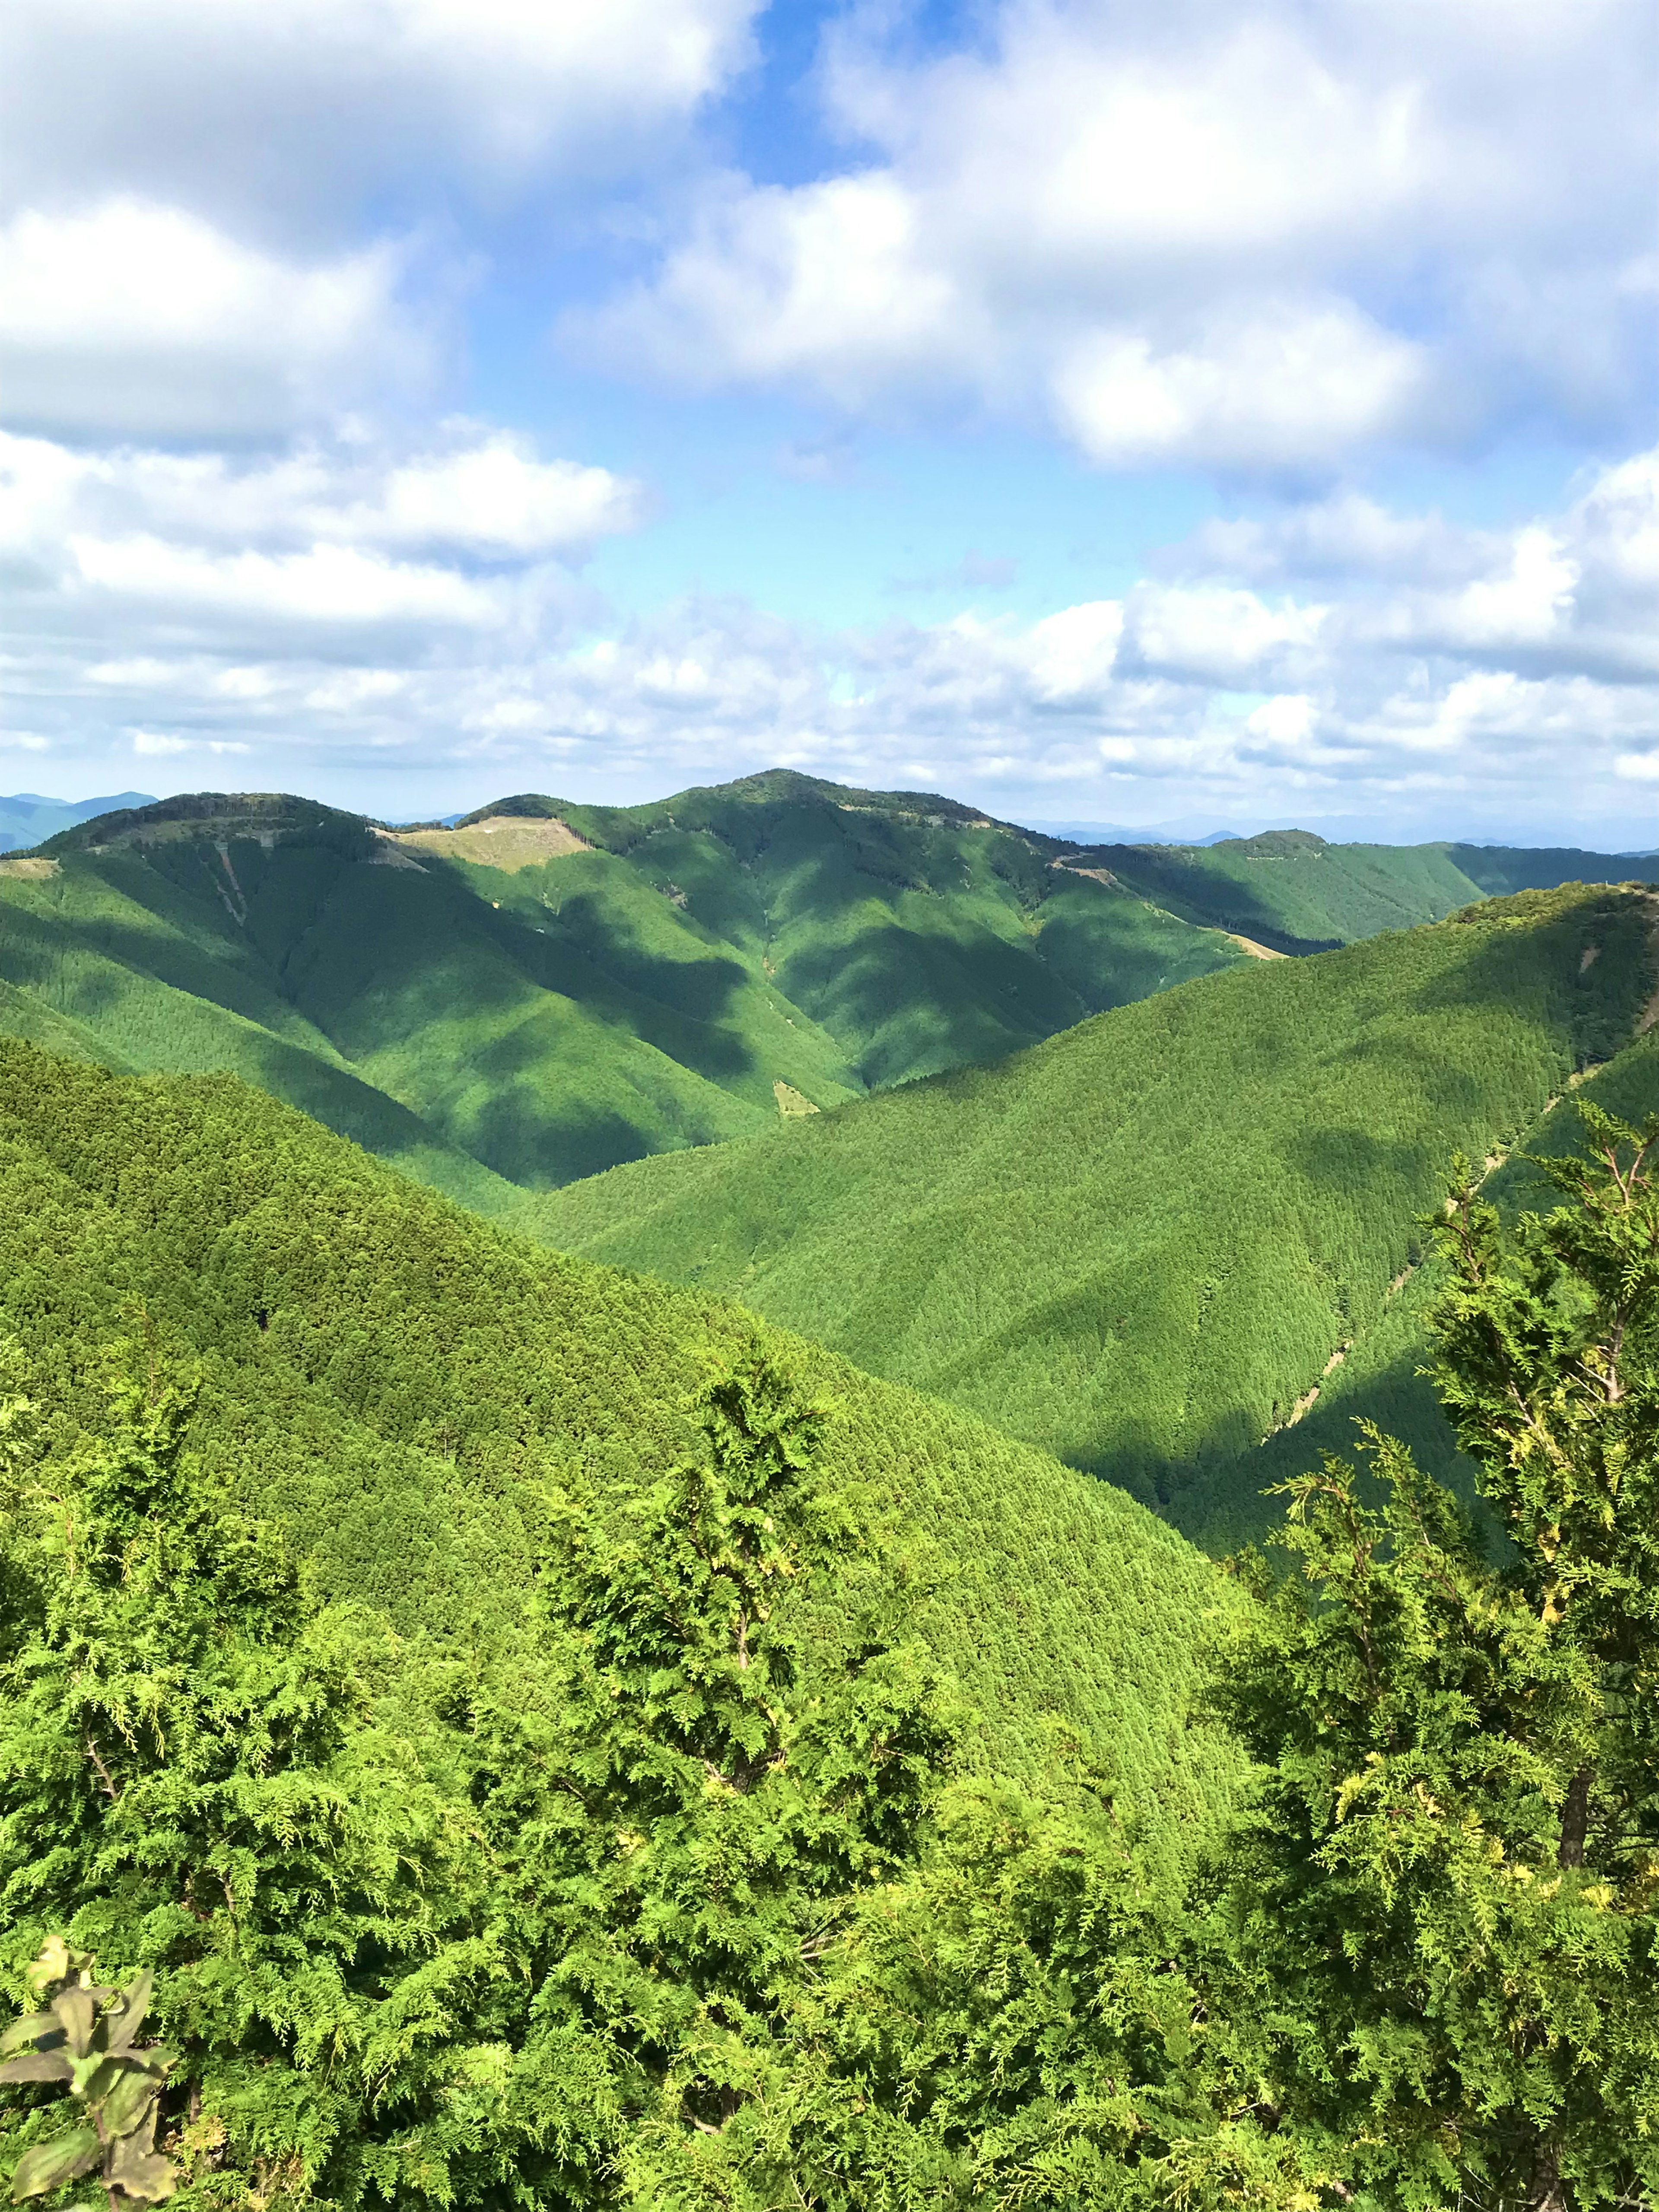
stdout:
{"type": "Polygon", "coordinates": [[[91,438],[270,438],[427,398],[458,212],[604,190],[750,51],[754,0],[15,0],[0,392],[91,438]]]}

